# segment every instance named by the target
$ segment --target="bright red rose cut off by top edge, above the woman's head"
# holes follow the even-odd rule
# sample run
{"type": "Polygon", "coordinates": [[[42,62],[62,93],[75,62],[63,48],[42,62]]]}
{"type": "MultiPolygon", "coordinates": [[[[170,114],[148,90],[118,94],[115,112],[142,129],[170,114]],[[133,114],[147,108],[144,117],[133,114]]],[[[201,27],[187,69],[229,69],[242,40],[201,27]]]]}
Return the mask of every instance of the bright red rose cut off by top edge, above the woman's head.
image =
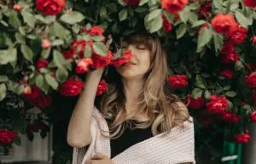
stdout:
{"type": "Polygon", "coordinates": [[[162,0],[161,6],[169,13],[177,13],[183,10],[187,3],[189,3],[188,0],[162,0]]]}

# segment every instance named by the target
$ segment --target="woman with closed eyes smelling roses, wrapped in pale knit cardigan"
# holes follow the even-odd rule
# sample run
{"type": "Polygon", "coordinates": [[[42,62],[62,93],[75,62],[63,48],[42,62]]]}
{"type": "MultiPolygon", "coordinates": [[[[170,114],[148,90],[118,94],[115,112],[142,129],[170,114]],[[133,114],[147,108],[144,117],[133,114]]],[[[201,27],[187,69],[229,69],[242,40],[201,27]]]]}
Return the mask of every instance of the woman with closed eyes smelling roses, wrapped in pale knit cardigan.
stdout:
{"type": "Polygon", "coordinates": [[[131,60],[116,68],[119,76],[96,105],[99,110],[94,103],[104,69],[85,78],[67,132],[73,164],[195,163],[193,122],[186,105],[166,93],[160,40],[133,34],[121,48],[131,51],[131,60]]]}

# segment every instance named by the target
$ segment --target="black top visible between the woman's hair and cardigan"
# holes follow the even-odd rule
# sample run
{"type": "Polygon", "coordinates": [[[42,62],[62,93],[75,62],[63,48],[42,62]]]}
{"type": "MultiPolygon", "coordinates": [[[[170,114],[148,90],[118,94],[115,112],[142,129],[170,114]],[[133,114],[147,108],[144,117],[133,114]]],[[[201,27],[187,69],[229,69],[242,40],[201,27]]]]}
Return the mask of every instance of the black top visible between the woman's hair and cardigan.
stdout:
{"type": "Polygon", "coordinates": [[[126,127],[124,133],[117,139],[110,139],[111,158],[128,149],[134,144],[153,137],[151,127],[146,129],[126,127]]]}

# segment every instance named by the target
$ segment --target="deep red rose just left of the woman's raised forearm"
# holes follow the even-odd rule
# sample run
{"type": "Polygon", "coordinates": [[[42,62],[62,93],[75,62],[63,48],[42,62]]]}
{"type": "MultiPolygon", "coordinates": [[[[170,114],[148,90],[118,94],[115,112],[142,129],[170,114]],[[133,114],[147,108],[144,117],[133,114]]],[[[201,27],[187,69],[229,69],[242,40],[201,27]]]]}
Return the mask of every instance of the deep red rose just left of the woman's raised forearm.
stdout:
{"type": "Polygon", "coordinates": [[[76,96],[82,92],[84,82],[80,82],[78,78],[68,79],[61,85],[59,92],[63,96],[76,96]]]}

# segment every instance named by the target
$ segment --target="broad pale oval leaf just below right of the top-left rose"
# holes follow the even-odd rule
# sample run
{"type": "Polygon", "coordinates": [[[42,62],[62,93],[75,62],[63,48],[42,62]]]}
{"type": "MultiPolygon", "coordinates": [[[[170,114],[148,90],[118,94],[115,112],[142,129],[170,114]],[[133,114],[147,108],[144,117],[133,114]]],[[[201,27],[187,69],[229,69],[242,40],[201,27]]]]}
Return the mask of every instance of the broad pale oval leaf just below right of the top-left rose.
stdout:
{"type": "Polygon", "coordinates": [[[75,24],[75,23],[79,23],[82,20],[84,20],[84,15],[77,12],[77,11],[73,11],[72,13],[67,13],[67,14],[62,14],[61,15],[61,21],[67,23],[67,24],[75,24]]]}

